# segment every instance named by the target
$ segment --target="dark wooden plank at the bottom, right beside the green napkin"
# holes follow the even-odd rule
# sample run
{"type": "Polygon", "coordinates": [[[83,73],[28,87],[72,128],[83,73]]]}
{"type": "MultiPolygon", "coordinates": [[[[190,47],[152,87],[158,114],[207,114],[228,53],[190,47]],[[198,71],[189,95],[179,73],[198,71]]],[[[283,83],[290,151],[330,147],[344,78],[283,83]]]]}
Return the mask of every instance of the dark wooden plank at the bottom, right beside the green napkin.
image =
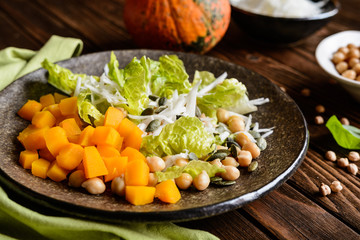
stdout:
{"type": "Polygon", "coordinates": [[[192,229],[208,231],[220,239],[271,239],[239,211],[231,211],[215,217],[177,223],[192,229]]]}

